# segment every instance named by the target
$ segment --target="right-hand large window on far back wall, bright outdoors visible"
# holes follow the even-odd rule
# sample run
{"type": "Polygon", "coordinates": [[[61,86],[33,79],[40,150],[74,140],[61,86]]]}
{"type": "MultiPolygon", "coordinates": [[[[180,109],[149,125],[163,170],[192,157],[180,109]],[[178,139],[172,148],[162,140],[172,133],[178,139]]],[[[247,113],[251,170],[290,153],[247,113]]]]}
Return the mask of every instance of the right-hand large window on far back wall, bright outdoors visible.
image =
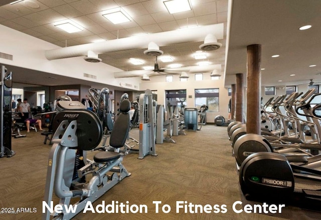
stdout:
{"type": "Polygon", "coordinates": [[[219,112],[219,89],[195,89],[195,107],[200,109],[201,105],[206,104],[208,112],[219,112]]]}

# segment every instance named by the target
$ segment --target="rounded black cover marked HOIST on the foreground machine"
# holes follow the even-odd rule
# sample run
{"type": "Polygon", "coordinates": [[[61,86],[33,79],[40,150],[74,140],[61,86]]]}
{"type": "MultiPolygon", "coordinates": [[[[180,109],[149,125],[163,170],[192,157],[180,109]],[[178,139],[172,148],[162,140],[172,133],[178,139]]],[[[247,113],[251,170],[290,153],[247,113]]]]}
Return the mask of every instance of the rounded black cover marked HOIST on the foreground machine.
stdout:
{"type": "Polygon", "coordinates": [[[65,110],[56,115],[53,120],[53,131],[55,132],[64,120],[69,122],[77,120],[76,135],[78,138],[78,149],[92,150],[101,141],[103,132],[98,117],[87,109],[65,110]]]}

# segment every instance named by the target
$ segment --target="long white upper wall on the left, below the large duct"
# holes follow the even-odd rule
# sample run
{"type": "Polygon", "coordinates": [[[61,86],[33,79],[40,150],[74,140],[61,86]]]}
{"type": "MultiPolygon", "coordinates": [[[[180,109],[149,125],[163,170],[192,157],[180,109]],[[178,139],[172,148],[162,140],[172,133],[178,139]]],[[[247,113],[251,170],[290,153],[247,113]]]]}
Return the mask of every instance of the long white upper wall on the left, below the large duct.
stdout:
{"type": "Polygon", "coordinates": [[[0,62],[27,69],[39,70],[57,75],[67,75],[73,78],[99,82],[107,85],[126,87],[125,83],[131,84],[130,89],[139,88],[140,79],[121,78],[115,79],[113,72],[121,71],[105,63],[89,63],[83,57],[73,57],[58,60],[47,60],[45,51],[60,48],[41,39],[32,37],[22,32],[0,25],[0,52],[13,55],[13,61],[1,59],[0,62]],[[83,76],[83,73],[96,75],[96,79],[83,76]]]}

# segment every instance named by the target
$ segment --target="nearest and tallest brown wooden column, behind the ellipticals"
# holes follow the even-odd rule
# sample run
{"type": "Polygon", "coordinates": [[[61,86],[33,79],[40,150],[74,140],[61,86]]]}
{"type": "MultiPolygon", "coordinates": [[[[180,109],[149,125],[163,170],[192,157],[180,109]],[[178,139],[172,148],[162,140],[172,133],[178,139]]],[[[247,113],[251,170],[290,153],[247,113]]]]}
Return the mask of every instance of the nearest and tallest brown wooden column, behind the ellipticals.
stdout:
{"type": "Polygon", "coordinates": [[[246,133],[261,134],[261,45],[247,46],[246,133]]]}

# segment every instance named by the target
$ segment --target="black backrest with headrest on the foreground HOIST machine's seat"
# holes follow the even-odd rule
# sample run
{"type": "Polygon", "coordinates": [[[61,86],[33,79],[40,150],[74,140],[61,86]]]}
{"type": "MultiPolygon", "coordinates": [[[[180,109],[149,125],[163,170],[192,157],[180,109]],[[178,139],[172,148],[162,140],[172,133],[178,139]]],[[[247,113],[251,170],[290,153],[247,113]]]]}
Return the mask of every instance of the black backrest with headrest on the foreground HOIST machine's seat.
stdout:
{"type": "Polygon", "coordinates": [[[109,145],[114,148],[121,148],[124,146],[129,128],[129,111],[130,101],[128,99],[122,100],[119,106],[120,114],[117,117],[117,120],[114,123],[114,128],[110,135],[109,145]],[[125,113],[124,113],[125,112],[125,113]]]}

